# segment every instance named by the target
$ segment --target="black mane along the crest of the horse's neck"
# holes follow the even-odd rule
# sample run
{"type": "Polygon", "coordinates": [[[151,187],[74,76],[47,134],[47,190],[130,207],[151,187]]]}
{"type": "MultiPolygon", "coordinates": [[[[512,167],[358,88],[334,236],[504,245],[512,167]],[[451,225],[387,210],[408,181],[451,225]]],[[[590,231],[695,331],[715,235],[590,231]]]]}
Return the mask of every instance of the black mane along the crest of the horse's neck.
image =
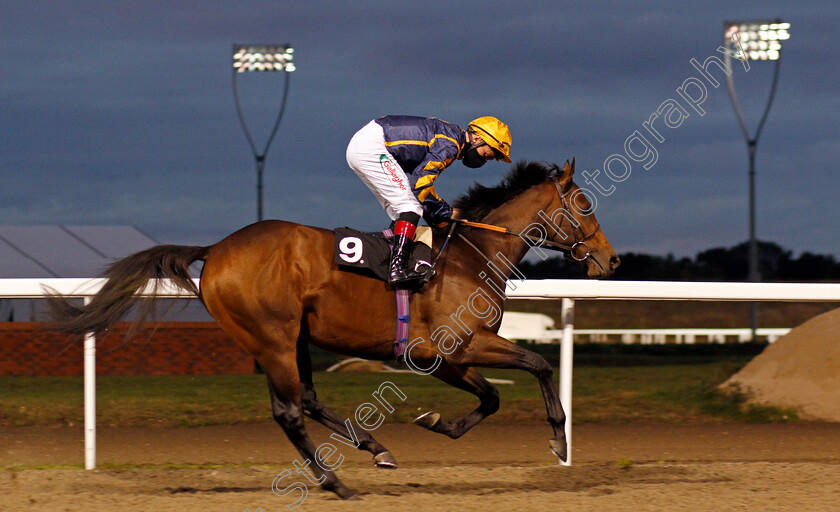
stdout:
{"type": "Polygon", "coordinates": [[[561,171],[557,165],[520,161],[513,165],[495,187],[474,183],[452,206],[460,210],[461,218],[478,221],[534,185],[545,183],[550,177],[559,174],[561,171]]]}

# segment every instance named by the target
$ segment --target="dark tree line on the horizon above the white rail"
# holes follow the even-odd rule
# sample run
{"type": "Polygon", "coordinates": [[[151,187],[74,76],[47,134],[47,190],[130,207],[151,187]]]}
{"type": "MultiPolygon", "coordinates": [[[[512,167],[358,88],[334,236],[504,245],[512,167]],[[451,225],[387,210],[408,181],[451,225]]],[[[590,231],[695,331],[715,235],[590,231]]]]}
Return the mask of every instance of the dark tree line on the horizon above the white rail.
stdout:
{"type": "MultiPolygon", "coordinates": [[[[625,281],[746,281],[749,243],[715,247],[694,258],[675,258],[628,252],[619,254],[621,266],[611,279],[625,281]]],[[[519,269],[529,279],[583,278],[584,271],[562,257],[523,261],[519,269]]],[[[762,281],[840,281],[840,263],[834,256],[793,252],[773,242],[758,242],[758,270],[762,281]]]]}

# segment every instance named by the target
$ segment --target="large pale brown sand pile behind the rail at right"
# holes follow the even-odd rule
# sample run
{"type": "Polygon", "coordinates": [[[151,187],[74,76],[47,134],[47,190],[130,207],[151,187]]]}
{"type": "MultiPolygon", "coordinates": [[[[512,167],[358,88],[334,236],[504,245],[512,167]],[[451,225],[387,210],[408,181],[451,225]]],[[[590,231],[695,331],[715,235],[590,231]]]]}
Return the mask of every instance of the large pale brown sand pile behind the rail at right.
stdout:
{"type": "Polygon", "coordinates": [[[808,320],[769,345],[721,387],[732,385],[755,403],[840,421],[840,309],[808,320]]]}

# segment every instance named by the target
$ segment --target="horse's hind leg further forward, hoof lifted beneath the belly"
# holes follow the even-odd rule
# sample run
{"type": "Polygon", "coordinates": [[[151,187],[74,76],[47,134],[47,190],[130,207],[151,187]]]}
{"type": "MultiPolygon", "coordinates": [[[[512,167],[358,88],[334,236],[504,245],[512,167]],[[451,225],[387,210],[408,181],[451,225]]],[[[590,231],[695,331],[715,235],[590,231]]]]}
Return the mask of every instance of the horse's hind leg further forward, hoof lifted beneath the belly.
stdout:
{"type": "Polygon", "coordinates": [[[391,455],[391,452],[379,444],[367,430],[353,428],[349,419],[342,418],[318,400],[315,385],[312,383],[312,359],[309,354],[309,344],[303,338],[298,341],[297,364],[300,372],[300,395],[304,414],[345,439],[358,442],[357,448],[370,452],[373,455],[373,463],[377,467],[397,469],[397,460],[391,455]]]}

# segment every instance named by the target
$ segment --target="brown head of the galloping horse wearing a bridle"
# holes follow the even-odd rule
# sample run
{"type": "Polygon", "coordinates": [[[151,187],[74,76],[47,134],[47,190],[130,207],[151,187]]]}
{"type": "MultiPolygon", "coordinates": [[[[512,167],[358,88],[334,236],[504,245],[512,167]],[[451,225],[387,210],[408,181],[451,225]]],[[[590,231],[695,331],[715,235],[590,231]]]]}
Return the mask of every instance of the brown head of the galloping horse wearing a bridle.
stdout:
{"type": "Polygon", "coordinates": [[[574,158],[571,163],[566,160],[562,169],[557,166],[552,168],[550,184],[543,187],[554,189],[554,199],[547,209],[539,212],[538,217],[548,233],[548,240],[567,246],[566,257],[585,267],[587,276],[609,277],[621,260],[601,231],[594,214],[595,205],[572,181],[574,173],[574,158]]]}

